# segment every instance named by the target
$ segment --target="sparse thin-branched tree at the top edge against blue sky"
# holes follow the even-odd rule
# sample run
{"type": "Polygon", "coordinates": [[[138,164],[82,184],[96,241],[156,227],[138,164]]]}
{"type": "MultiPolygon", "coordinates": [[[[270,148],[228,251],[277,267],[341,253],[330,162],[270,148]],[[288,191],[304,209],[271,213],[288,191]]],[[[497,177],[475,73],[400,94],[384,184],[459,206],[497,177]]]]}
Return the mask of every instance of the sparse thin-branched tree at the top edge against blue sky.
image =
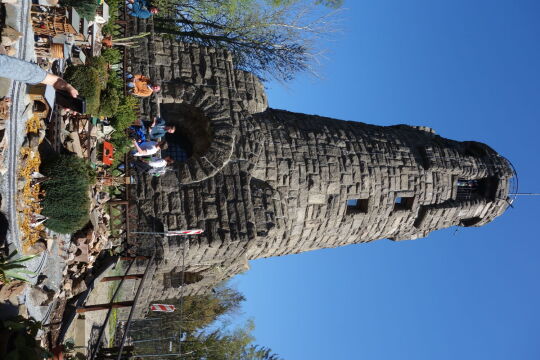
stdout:
{"type": "Polygon", "coordinates": [[[185,42],[229,50],[235,64],[262,79],[291,80],[312,71],[320,53],[316,40],[335,31],[335,11],[322,12],[320,0],[162,0],[163,18],[155,32],[185,42]]]}

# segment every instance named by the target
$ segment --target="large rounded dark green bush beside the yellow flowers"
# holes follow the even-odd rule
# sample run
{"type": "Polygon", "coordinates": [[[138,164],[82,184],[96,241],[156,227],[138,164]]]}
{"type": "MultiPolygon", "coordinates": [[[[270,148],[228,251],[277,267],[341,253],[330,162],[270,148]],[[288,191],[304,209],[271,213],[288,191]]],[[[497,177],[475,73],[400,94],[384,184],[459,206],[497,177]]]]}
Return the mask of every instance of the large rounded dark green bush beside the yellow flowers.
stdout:
{"type": "Polygon", "coordinates": [[[45,225],[56,232],[71,234],[89,220],[89,186],[95,182],[95,173],[89,164],[74,155],[60,155],[42,165],[45,181],[45,199],[42,214],[49,217],[45,225]]]}

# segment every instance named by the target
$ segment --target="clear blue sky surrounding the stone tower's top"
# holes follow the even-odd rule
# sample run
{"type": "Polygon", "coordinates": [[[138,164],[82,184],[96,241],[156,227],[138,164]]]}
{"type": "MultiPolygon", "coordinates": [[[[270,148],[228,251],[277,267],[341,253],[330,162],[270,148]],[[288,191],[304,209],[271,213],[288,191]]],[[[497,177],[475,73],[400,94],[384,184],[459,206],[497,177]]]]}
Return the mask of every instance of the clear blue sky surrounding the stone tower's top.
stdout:
{"type": "MultiPolygon", "coordinates": [[[[270,105],[426,125],[509,158],[540,192],[540,2],[346,1],[322,79],[270,105]]],[[[482,228],[257,260],[233,283],[287,360],[540,359],[540,197],[482,228]]]]}

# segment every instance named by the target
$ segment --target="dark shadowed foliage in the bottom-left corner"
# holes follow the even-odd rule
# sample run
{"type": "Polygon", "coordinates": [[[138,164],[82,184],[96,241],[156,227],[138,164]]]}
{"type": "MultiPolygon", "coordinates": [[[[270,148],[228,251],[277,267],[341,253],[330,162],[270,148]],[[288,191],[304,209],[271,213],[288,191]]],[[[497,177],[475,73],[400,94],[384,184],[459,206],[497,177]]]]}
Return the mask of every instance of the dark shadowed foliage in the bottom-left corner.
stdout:
{"type": "Polygon", "coordinates": [[[0,321],[0,359],[41,360],[51,354],[39,346],[35,339],[41,323],[17,316],[0,321]]]}

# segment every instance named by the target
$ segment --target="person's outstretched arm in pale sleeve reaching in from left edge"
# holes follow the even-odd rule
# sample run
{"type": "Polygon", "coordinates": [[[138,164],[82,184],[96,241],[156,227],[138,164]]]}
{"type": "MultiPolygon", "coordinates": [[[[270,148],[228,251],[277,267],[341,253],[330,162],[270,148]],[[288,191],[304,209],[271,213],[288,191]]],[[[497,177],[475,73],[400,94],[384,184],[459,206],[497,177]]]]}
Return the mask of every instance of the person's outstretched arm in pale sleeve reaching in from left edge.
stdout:
{"type": "Polygon", "coordinates": [[[56,90],[65,91],[73,97],[79,95],[77,89],[61,77],[48,73],[31,62],[5,55],[4,52],[4,47],[0,45],[0,77],[31,85],[51,85],[56,90]]]}

